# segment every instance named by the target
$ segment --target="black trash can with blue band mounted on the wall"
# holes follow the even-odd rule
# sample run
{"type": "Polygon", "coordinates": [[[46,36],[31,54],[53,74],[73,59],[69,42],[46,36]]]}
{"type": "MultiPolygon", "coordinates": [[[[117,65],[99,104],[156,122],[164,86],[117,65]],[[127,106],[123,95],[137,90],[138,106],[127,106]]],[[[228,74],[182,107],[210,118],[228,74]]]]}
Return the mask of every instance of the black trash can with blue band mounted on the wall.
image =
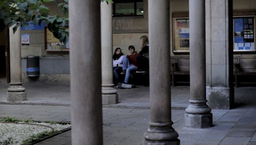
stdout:
{"type": "Polygon", "coordinates": [[[27,56],[27,76],[39,76],[39,56],[27,56]]]}

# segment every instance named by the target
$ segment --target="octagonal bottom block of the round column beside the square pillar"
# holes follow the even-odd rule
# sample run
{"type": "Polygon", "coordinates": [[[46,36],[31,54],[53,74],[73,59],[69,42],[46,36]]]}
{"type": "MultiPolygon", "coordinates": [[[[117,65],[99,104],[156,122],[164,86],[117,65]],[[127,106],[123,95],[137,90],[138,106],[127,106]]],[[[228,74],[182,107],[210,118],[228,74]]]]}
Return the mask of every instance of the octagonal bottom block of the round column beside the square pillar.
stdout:
{"type": "Polygon", "coordinates": [[[213,126],[213,114],[185,114],[185,126],[188,128],[209,128],[213,126]]]}

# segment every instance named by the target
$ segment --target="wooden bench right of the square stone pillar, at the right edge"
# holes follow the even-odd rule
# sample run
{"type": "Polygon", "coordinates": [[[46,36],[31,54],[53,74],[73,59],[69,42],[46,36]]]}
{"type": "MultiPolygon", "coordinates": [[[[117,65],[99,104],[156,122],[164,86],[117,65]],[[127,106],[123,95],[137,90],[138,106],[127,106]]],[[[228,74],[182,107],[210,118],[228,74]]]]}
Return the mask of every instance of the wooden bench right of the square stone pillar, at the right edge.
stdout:
{"type": "MultiPolygon", "coordinates": [[[[237,88],[238,76],[255,76],[256,75],[256,58],[255,57],[236,57],[234,61],[234,80],[237,88]]],[[[241,82],[240,83],[245,83],[241,82]]],[[[251,82],[256,83],[256,82],[251,82]]]]}

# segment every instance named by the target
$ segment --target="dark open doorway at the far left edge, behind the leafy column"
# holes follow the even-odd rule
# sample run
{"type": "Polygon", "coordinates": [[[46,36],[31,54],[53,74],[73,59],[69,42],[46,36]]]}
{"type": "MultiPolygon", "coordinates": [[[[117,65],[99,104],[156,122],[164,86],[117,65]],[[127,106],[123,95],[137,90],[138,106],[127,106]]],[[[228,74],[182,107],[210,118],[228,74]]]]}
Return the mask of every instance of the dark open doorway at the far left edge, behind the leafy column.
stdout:
{"type": "Polygon", "coordinates": [[[10,82],[9,29],[0,32],[0,81],[10,82]]]}

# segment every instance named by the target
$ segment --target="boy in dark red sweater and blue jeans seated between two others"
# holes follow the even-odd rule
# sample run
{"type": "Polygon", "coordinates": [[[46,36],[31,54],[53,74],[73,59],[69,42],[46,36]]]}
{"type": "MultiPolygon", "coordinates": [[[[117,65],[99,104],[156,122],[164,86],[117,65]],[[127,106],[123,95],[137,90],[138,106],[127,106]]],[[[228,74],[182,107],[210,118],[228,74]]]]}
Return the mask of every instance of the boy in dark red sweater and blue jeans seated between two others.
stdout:
{"type": "Polygon", "coordinates": [[[138,63],[136,57],[139,55],[135,52],[135,47],[133,45],[130,45],[128,47],[128,50],[130,51],[131,55],[124,56],[123,59],[123,71],[121,74],[126,74],[124,79],[124,84],[127,84],[130,78],[130,72],[133,70],[136,70],[138,68],[138,63]]]}

